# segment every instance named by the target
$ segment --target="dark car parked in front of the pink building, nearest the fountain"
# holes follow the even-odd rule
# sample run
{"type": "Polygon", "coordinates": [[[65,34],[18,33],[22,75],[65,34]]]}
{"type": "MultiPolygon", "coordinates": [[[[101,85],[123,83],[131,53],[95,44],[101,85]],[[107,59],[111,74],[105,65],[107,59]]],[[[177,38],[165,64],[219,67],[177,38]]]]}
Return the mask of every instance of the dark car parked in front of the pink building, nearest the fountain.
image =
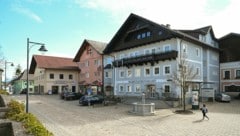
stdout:
{"type": "Polygon", "coordinates": [[[79,99],[81,105],[93,105],[103,103],[104,98],[102,95],[85,95],[79,99]]]}

